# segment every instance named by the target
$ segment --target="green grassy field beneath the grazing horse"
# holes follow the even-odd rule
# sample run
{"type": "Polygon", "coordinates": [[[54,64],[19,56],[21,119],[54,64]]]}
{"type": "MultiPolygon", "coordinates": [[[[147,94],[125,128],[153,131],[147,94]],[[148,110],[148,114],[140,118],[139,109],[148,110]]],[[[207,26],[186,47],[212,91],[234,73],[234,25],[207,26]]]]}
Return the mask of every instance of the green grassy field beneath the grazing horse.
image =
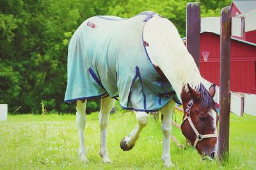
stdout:
{"type": "MultiPolygon", "coordinates": [[[[129,152],[119,143],[134,125],[134,113],[115,113],[110,116],[108,150],[112,164],[102,164],[99,156],[98,115],[86,117],[85,142],[88,164],[77,155],[79,140],[75,115],[13,115],[0,122],[0,169],[163,169],[161,160],[161,122],[150,117],[140,139],[129,152]]],[[[182,115],[173,120],[180,123],[182,115]]],[[[191,146],[178,148],[171,143],[173,169],[256,169],[256,117],[244,115],[230,118],[230,157],[223,165],[202,160],[191,146]]],[[[179,129],[174,136],[185,143],[179,129]]]]}

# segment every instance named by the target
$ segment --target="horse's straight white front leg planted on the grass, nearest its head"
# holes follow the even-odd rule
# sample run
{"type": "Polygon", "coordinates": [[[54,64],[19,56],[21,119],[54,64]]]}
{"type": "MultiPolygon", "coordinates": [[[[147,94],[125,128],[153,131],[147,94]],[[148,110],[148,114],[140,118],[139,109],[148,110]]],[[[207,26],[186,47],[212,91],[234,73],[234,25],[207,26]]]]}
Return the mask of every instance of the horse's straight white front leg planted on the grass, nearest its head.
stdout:
{"type": "Polygon", "coordinates": [[[164,166],[169,167],[173,166],[170,160],[170,138],[172,135],[172,114],[175,102],[170,101],[164,108],[161,110],[163,115],[162,122],[162,131],[163,131],[163,153],[162,160],[164,161],[164,166]]]}

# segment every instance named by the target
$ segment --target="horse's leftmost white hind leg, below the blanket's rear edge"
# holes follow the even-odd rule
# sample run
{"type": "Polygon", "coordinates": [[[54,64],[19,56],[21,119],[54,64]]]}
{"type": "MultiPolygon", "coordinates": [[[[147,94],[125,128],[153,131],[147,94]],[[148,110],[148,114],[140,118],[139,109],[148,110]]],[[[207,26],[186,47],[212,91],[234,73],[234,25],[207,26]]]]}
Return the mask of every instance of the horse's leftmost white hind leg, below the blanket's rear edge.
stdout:
{"type": "Polygon", "coordinates": [[[81,157],[81,160],[84,162],[88,162],[86,158],[86,150],[84,147],[84,127],[85,127],[85,109],[86,109],[86,100],[76,101],[76,125],[78,129],[79,134],[79,155],[81,157]]]}

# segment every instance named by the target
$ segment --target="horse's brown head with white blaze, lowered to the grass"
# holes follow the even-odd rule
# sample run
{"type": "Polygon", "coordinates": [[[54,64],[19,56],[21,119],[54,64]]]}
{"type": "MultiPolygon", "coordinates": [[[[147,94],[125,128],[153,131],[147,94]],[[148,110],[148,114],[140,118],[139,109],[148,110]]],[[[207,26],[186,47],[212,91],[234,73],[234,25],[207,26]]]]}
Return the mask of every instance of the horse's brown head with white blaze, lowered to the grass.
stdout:
{"type": "Polygon", "coordinates": [[[184,117],[181,124],[182,134],[195,146],[200,155],[216,157],[218,147],[218,114],[213,98],[215,85],[209,88],[200,85],[198,92],[188,85],[188,92],[182,91],[184,117]]]}

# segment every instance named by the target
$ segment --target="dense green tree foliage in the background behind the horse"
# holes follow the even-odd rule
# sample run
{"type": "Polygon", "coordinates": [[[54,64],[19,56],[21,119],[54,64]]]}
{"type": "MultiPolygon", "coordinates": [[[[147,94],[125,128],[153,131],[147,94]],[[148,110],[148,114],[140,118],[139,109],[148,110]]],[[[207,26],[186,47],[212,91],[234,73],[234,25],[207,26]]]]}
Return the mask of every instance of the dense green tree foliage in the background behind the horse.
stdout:
{"type": "MultiPolygon", "coordinates": [[[[13,112],[70,112],[63,103],[67,85],[67,46],[77,27],[94,15],[132,17],[141,11],[159,13],[186,31],[188,1],[160,0],[0,0],[0,103],[13,112]]],[[[229,1],[201,1],[202,16],[220,15],[229,1]]],[[[92,101],[89,110],[99,109],[92,101]]]]}

